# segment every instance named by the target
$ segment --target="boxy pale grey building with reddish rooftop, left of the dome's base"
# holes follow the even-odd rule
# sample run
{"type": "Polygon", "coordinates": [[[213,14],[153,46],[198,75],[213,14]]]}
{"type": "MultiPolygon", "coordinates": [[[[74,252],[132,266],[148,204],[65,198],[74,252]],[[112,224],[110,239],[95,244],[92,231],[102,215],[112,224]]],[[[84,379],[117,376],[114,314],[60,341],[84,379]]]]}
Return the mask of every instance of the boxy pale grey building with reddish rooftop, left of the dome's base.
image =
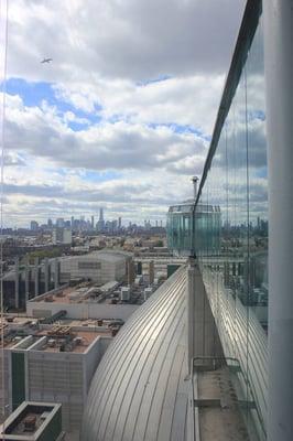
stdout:
{"type": "Polygon", "coordinates": [[[56,323],[17,316],[3,323],[7,411],[24,400],[59,402],[63,429],[78,433],[91,377],[123,322],[56,323]]]}

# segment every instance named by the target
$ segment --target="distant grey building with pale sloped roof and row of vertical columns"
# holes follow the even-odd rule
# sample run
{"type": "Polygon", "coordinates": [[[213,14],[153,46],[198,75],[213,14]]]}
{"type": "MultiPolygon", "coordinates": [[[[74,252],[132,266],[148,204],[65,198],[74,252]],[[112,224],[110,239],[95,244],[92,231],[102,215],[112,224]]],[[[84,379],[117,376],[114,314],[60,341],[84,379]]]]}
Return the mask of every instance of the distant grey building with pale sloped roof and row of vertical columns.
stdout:
{"type": "Polygon", "coordinates": [[[127,260],[122,252],[95,251],[83,256],[28,260],[20,265],[17,258],[14,269],[3,275],[6,308],[25,309],[25,302],[61,284],[76,280],[93,280],[104,284],[126,277],[127,260]]]}

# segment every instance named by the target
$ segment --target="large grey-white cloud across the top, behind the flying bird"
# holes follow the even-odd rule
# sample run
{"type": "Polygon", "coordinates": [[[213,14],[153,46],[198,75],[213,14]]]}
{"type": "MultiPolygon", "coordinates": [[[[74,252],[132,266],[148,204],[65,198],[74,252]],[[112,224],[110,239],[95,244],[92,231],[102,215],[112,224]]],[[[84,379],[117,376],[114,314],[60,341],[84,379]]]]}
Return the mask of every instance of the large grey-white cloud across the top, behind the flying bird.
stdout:
{"type": "Polygon", "coordinates": [[[243,7],[243,0],[15,0],[11,73],[53,82],[79,71],[135,80],[223,73],[243,7]],[[37,66],[44,55],[54,60],[50,69],[37,66]]]}

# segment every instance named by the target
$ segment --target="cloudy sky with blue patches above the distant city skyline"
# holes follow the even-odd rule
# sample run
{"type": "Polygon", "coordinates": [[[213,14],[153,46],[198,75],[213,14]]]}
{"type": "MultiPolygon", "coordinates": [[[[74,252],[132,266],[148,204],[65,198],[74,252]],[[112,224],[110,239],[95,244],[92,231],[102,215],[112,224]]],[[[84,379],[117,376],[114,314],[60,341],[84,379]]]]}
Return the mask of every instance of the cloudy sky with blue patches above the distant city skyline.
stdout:
{"type": "Polygon", "coordinates": [[[4,84],[6,3],[4,226],[164,222],[200,176],[245,0],[11,0],[4,84]]]}

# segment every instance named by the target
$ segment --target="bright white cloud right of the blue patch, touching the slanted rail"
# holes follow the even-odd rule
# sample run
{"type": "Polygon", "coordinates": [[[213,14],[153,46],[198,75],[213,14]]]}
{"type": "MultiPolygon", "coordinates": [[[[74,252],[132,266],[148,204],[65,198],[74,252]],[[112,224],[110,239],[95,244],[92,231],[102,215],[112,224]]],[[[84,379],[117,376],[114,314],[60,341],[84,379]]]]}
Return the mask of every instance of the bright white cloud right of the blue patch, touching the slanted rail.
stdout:
{"type": "Polygon", "coordinates": [[[223,75],[174,77],[140,86],[130,80],[96,78],[95,84],[59,84],[57,95],[76,108],[105,119],[130,122],[191,125],[210,135],[223,88],[223,75]]]}

